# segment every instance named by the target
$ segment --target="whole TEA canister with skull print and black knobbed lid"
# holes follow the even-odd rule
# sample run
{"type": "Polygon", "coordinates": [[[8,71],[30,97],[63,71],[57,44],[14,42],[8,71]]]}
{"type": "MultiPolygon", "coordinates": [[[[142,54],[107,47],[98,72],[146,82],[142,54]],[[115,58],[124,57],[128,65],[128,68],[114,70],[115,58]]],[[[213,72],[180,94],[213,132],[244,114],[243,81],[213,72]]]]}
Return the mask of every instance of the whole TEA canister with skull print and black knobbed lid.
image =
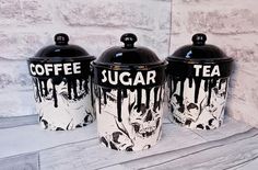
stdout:
{"type": "Polygon", "coordinates": [[[204,34],[167,57],[168,115],[181,126],[213,129],[223,123],[233,59],[204,34]]]}

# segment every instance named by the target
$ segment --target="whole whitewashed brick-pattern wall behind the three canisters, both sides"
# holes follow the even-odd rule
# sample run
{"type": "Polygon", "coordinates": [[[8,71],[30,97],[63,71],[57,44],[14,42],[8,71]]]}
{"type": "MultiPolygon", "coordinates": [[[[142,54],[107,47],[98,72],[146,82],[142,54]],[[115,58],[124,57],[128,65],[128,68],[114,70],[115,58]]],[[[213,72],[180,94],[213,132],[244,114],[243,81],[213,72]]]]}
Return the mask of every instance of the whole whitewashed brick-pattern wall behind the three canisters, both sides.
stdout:
{"type": "Polygon", "coordinates": [[[0,0],[0,117],[35,114],[26,58],[58,32],[99,56],[125,32],[161,58],[203,32],[235,58],[227,113],[258,127],[256,0],[0,0]]]}

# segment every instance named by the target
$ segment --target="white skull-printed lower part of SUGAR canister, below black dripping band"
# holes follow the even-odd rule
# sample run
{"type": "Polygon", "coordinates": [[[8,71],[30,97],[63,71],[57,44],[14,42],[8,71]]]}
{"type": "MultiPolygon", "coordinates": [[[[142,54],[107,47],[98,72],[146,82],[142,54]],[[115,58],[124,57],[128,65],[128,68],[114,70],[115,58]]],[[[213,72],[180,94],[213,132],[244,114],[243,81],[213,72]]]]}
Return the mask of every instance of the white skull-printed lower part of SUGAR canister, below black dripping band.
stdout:
{"type": "Polygon", "coordinates": [[[137,110],[139,89],[126,89],[126,97],[124,92],[121,93],[121,120],[118,121],[118,90],[113,89],[104,94],[103,88],[95,87],[97,129],[102,144],[115,150],[136,151],[148,149],[160,140],[164,86],[154,89],[151,88],[149,91],[149,107],[146,106],[148,92],[145,89],[140,89],[141,109],[139,112],[137,110]],[[104,95],[106,95],[106,102],[104,95]]]}

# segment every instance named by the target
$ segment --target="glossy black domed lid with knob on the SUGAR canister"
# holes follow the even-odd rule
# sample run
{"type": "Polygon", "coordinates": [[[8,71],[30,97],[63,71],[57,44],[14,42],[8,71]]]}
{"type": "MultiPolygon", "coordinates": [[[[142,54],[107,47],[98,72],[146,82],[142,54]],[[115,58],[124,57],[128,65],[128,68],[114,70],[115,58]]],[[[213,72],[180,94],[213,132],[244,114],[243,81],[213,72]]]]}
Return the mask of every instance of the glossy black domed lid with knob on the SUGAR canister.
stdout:
{"type": "Polygon", "coordinates": [[[105,50],[94,64],[122,67],[132,65],[157,65],[162,63],[151,49],[134,46],[137,42],[134,34],[126,33],[120,37],[120,41],[125,44],[124,46],[116,46],[105,50]]]}

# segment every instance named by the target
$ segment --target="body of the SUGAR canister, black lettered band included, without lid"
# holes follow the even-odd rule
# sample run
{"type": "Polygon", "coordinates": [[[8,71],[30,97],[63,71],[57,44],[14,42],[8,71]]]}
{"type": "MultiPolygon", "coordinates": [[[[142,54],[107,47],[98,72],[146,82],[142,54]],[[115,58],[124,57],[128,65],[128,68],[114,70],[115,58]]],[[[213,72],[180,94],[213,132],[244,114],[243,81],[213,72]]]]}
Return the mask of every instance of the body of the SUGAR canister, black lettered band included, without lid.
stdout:
{"type": "Polygon", "coordinates": [[[136,151],[148,149],[159,141],[164,70],[164,66],[120,71],[95,67],[94,76],[98,75],[95,77],[95,107],[102,144],[115,150],[136,151]]]}

